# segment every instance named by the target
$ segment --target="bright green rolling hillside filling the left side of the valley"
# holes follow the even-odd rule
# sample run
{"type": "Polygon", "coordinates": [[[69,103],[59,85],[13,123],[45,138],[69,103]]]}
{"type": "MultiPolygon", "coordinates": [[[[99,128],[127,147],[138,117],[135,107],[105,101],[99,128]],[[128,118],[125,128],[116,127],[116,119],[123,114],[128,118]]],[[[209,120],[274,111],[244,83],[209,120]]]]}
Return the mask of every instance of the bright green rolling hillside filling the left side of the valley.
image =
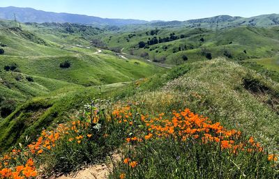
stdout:
{"type": "Polygon", "coordinates": [[[103,86],[105,93],[165,71],[153,63],[98,52],[84,34],[95,36],[102,33],[100,29],[77,24],[0,24],[1,150],[62,122],[82,102],[98,95],[94,86],[103,86]],[[69,26],[73,32],[65,30],[69,26]],[[90,33],[78,33],[79,28],[90,33]]]}

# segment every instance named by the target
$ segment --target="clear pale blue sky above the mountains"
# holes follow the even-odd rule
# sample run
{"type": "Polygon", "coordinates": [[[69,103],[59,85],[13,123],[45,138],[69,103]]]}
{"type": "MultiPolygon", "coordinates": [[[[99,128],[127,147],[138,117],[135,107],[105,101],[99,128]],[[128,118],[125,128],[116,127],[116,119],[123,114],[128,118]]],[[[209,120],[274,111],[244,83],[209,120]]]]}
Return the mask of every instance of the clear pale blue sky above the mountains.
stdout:
{"type": "Polygon", "coordinates": [[[278,0],[0,0],[0,7],[6,6],[138,20],[190,20],[215,15],[252,17],[279,13],[278,0]]]}

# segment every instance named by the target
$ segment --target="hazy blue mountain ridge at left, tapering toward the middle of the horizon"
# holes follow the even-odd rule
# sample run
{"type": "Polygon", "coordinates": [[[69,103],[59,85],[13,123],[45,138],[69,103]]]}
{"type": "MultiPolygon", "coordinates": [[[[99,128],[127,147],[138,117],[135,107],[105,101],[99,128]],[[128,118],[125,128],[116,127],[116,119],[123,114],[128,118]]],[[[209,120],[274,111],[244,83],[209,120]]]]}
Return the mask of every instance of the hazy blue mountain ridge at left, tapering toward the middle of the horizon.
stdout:
{"type": "Polygon", "coordinates": [[[112,25],[122,26],[128,24],[146,24],[144,20],[121,20],[121,19],[107,19],[101,17],[94,17],[88,15],[75,15],[69,13],[51,13],[43,10],[36,10],[33,8],[17,8],[6,7],[0,8],[0,19],[14,20],[16,16],[19,22],[69,22],[78,24],[96,24],[96,25],[112,25]]]}

